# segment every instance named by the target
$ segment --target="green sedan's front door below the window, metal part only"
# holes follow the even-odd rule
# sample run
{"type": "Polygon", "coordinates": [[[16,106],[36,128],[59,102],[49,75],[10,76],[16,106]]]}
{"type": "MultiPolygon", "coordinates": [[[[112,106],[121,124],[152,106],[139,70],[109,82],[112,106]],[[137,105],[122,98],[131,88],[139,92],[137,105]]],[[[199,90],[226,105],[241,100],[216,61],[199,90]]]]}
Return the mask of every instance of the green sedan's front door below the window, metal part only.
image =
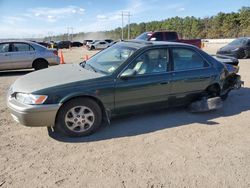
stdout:
{"type": "Polygon", "coordinates": [[[171,91],[171,74],[118,79],[115,87],[115,108],[122,109],[166,102],[171,91]]]}

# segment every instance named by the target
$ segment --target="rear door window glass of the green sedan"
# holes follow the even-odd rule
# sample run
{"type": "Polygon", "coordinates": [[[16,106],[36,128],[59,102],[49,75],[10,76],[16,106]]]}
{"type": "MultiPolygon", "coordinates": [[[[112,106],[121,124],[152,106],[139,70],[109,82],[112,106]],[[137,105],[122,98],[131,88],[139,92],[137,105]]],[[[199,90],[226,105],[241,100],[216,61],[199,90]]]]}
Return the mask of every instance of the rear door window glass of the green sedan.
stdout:
{"type": "Polygon", "coordinates": [[[174,71],[200,69],[209,64],[197,52],[187,48],[173,48],[174,71]]]}

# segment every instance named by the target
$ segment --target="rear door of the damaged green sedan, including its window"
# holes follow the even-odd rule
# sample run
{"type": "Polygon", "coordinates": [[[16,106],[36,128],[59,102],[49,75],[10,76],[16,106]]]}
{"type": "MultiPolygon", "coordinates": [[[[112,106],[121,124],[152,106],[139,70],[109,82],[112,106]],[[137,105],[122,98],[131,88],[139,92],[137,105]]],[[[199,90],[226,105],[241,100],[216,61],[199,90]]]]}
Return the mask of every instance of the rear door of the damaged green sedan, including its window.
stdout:
{"type": "Polygon", "coordinates": [[[216,71],[197,52],[174,48],[172,103],[185,103],[199,96],[215,79],[216,71]]]}

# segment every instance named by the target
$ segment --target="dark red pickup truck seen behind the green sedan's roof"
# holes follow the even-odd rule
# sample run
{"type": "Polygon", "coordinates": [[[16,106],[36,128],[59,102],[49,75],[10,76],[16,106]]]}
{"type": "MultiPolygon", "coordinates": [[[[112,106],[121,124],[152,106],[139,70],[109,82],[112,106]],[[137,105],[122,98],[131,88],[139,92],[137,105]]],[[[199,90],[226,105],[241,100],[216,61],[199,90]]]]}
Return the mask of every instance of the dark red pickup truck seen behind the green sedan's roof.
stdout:
{"type": "Polygon", "coordinates": [[[169,41],[169,42],[182,42],[186,44],[192,44],[201,48],[201,39],[179,39],[178,34],[175,31],[154,31],[154,32],[144,32],[136,40],[146,40],[146,41],[169,41]]]}

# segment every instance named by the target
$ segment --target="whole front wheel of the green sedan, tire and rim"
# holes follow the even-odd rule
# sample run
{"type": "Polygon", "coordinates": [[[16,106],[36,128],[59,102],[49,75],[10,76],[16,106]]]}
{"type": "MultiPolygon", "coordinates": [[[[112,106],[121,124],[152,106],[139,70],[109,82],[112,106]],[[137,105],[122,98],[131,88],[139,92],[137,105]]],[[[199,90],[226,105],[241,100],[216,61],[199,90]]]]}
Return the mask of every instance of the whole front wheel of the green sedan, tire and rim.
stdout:
{"type": "Polygon", "coordinates": [[[70,137],[87,136],[101,125],[100,106],[88,98],[72,99],[59,110],[56,118],[56,130],[70,137]]]}

